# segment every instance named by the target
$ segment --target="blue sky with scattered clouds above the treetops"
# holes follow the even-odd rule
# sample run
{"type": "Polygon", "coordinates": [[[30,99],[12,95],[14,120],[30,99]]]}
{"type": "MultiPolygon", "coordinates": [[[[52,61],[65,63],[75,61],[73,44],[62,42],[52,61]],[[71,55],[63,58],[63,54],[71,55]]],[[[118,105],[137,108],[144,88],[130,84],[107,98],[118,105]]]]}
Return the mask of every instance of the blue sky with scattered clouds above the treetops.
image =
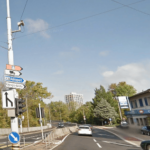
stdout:
{"type": "MultiPolygon", "coordinates": [[[[84,102],[92,101],[95,88],[103,85],[107,90],[121,81],[137,92],[150,88],[149,0],[25,4],[26,0],[10,0],[12,30],[18,29],[20,19],[25,23],[22,32],[13,34],[14,62],[23,68],[25,80],[48,88],[54,95],[51,101],[64,101],[70,92],[83,94],[84,102]]],[[[0,46],[7,48],[6,12],[6,0],[0,0],[0,46]]],[[[2,47],[1,80],[8,63],[2,47]]]]}

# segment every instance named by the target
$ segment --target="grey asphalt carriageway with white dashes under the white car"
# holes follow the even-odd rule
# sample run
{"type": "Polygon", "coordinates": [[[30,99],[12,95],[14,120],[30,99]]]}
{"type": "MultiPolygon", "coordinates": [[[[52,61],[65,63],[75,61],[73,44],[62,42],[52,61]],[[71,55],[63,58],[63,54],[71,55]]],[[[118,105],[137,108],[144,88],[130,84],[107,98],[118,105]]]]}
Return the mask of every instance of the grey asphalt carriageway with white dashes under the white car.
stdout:
{"type": "Polygon", "coordinates": [[[77,132],[69,135],[54,150],[141,150],[116,135],[105,130],[93,129],[93,136],[78,136],[77,132]]]}

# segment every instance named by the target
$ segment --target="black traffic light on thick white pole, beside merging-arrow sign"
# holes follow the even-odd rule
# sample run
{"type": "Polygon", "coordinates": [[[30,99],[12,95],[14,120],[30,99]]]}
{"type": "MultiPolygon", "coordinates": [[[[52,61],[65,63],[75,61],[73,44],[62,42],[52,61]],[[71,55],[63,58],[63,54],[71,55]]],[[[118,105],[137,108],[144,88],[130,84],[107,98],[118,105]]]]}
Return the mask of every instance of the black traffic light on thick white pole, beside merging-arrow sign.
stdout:
{"type": "Polygon", "coordinates": [[[16,101],[16,116],[19,116],[26,111],[26,109],[23,109],[24,107],[26,107],[26,105],[23,104],[25,100],[16,98],[15,101],[16,101]]]}

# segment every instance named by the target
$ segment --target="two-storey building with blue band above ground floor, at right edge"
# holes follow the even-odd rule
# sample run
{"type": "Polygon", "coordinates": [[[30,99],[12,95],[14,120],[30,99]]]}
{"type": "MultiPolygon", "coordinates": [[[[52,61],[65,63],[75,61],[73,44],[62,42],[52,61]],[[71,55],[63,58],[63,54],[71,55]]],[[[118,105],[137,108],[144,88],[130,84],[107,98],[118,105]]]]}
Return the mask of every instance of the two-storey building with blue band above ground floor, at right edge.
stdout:
{"type": "Polygon", "coordinates": [[[126,111],[130,127],[150,126],[150,89],[129,97],[131,111],[126,111]]]}

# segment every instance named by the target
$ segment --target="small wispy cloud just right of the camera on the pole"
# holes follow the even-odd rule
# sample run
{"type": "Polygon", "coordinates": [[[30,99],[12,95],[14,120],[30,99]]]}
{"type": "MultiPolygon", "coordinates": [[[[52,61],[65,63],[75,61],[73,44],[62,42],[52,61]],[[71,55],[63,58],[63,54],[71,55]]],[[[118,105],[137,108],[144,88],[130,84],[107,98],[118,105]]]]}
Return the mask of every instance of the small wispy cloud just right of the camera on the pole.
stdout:
{"type": "MultiPolygon", "coordinates": [[[[27,24],[28,33],[38,32],[41,30],[45,30],[49,27],[49,24],[42,19],[37,19],[37,20],[26,19],[25,21],[27,24]]],[[[50,35],[46,31],[39,32],[39,33],[41,36],[45,38],[50,38],[50,35]]]]}

